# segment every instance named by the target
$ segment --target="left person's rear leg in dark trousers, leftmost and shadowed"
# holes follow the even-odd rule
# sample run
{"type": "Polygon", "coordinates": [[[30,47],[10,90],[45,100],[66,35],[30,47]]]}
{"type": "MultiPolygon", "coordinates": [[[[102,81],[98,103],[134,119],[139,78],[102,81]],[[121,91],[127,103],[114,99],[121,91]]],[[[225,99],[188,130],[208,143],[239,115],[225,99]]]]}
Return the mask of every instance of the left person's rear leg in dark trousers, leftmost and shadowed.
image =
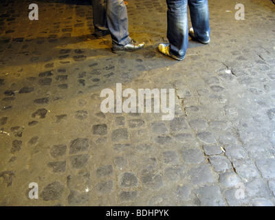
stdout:
{"type": "Polygon", "coordinates": [[[93,6],[93,23],[97,38],[109,34],[106,17],[106,0],[91,0],[93,6]]]}

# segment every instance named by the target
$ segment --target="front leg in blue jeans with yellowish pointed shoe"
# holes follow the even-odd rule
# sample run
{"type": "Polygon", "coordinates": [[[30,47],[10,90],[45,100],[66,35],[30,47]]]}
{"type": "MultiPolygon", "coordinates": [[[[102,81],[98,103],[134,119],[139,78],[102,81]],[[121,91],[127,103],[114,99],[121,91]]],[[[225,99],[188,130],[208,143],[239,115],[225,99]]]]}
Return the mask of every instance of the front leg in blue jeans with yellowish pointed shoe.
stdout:
{"type": "Polygon", "coordinates": [[[183,60],[188,47],[187,0],[166,0],[168,45],[160,44],[159,52],[183,60]]]}

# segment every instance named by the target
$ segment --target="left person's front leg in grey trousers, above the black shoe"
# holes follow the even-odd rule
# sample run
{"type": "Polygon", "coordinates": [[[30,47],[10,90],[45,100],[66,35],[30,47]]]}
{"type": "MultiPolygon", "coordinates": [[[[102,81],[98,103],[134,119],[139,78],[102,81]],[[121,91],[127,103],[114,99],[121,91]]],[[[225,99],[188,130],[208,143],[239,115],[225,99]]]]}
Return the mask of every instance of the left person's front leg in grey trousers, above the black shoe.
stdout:
{"type": "Polygon", "coordinates": [[[128,15],[123,0],[107,0],[106,12],[113,45],[127,45],[130,43],[128,15]]]}

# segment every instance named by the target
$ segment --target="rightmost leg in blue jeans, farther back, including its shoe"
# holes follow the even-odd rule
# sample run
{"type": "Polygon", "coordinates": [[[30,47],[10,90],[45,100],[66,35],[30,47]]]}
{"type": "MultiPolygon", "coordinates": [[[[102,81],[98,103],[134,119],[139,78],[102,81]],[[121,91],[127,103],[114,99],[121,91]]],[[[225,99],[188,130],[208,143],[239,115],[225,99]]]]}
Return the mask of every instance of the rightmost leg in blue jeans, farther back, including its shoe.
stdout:
{"type": "MultiPolygon", "coordinates": [[[[201,43],[209,43],[210,27],[209,27],[209,10],[208,0],[188,0],[190,9],[190,18],[195,38],[201,43]]],[[[190,34],[190,36],[192,36],[190,34]]]]}

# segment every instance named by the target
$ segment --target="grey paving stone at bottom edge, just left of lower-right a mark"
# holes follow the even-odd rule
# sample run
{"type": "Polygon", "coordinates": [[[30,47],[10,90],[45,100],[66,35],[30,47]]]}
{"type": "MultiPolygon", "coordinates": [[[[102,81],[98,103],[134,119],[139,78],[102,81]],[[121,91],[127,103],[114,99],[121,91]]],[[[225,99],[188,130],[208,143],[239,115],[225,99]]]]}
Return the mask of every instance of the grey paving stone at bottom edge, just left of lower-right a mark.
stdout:
{"type": "Polygon", "coordinates": [[[203,186],[195,190],[201,206],[226,206],[218,186],[203,186]]]}

